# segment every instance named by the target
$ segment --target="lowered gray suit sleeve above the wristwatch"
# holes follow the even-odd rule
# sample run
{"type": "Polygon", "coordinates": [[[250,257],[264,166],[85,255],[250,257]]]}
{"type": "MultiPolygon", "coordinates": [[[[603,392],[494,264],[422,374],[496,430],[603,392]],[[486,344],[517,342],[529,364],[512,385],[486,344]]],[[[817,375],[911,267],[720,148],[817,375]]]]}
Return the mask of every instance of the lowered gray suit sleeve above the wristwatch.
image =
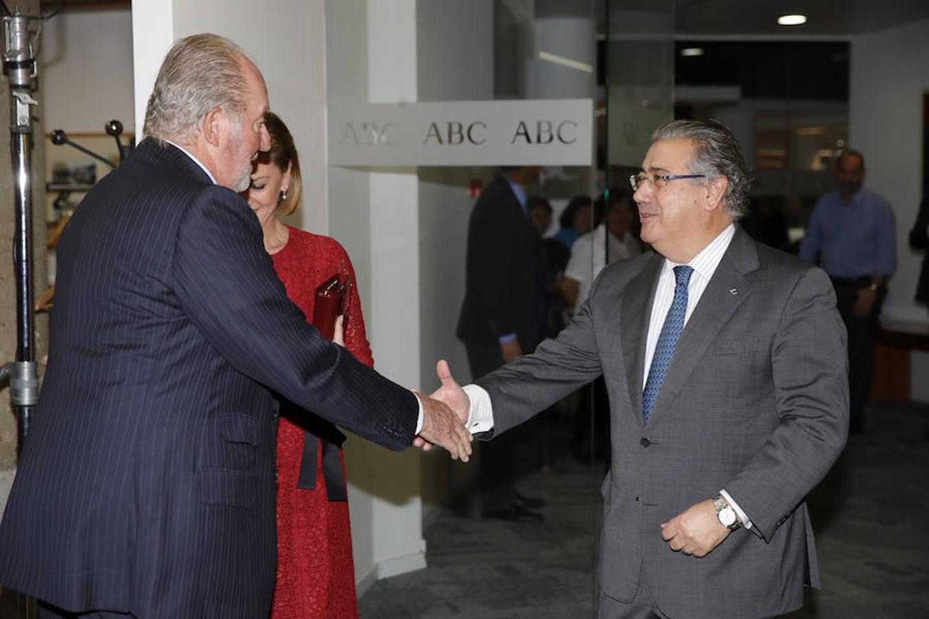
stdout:
{"type": "Polygon", "coordinates": [[[765,540],[842,453],[848,436],[847,358],[829,277],[809,269],[793,287],[772,349],[779,425],[724,486],[765,540]]]}

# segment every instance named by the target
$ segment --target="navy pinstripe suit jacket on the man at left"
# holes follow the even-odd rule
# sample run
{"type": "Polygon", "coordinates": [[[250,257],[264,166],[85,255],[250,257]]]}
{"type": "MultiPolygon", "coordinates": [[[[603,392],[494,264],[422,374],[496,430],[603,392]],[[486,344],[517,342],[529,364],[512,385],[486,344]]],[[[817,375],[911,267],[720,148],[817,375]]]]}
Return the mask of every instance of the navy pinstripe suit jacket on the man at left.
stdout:
{"type": "Polygon", "coordinates": [[[271,390],[392,449],[415,396],[307,326],[255,214],[143,141],[61,236],[45,382],[0,582],[69,611],[267,617],[271,390]]]}

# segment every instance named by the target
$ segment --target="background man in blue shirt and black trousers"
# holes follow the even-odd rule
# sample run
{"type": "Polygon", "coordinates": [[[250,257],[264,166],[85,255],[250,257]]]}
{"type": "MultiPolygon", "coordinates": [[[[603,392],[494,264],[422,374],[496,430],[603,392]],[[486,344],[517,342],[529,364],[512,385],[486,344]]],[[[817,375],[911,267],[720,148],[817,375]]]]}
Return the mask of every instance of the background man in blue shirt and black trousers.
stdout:
{"type": "Polygon", "coordinates": [[[800,255],[832,278],[839,312],[848,329],[851,432],[861,432],[874,364],[881,305],[896,269],[894,213],[877,194],[861,187],[864,156],[846,150],[835,169],[837,190],[817,202],[800,255]]]}

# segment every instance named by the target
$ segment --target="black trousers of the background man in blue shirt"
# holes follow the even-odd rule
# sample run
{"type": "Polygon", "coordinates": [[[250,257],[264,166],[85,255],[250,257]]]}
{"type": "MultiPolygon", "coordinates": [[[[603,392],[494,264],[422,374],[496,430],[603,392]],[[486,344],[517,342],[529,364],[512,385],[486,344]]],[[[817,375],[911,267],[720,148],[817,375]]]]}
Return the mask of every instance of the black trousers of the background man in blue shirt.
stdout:
{"type": "Polygon", "coordinates": [[[839,314],[848,330],[848,395],[850,400],[849,430],[864,430],[864,407],[868,401],[871,379],[874,374],[874,340],[877,338],[878,318],[883,300],[887,296],[884,286],[878,287],[867,316],[855,316],[852,308],[858,300],[858,290],[870,286],[870,277],[858,279],[832,278],[839,314]]]}

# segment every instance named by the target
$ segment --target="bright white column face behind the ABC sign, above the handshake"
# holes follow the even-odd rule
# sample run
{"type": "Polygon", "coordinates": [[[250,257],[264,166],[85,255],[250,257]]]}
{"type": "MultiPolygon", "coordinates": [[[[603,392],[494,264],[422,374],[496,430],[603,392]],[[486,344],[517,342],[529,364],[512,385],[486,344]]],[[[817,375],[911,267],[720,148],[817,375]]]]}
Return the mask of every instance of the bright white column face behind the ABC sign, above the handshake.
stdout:
{"type": "MultiPolygon", "coordinates": [[[[369,0],[368,97],[416,100],[416,2],[369,0]]],[[[420,380],[419,181],[415,168],[372,172],[371,341],[377,367],[400,384],[420,380]]],[[[394,486],[373,499],[378,577],[425,567],[420,456],[388,456],[381,475],[394,486]],[[404,498],[398,500],[399,496],[404,498]]]]}

